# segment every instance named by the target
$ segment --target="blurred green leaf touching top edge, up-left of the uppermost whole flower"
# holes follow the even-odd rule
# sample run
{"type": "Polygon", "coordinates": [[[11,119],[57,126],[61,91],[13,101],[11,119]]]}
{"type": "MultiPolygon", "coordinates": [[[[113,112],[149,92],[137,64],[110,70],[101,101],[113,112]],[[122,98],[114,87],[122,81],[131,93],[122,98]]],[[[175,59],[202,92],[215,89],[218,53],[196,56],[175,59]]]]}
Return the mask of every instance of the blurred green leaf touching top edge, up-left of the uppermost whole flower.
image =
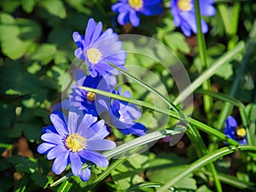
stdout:
{"type": "Polygon", "coordinates": [[[46,9],[49,14],[60,17],[61,19],[67,16],[65,6],[60,0],[44,0],[40,1],[39,5],[46,9]]]}

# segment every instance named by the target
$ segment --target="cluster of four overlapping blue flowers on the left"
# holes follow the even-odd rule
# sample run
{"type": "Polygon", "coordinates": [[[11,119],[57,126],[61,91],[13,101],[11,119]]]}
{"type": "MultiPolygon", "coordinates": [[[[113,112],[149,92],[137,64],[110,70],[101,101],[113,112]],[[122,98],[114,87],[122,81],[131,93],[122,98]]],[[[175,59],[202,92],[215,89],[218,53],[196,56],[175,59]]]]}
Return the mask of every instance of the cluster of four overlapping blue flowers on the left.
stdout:
{"type": "MultiPolygon", "coordinates": [[[[54,160],[52,171],[55,174],[61,174],[70,164],[73,175],[87,181],[90,167],[82,169],[82,165],[108,166],[102,151],[116,147],[113,141],[106,139],[109,127],[115,127],[125,135],[137,136],[143,136],[147,128],[137,122],[142,113],[135,105],[112,101],[107,96],[81,89],[84,86],[121,95],[120,88],[114,90],[117,84],[114,75],[118,71],[108,64],[111,62],[125,70],[126,53],[118,35],[112,29],[102,32],[102,22],[96,24],[90,19],[85,35],[73,32],[73,40],[78,45],[74,55],[85,61],[89,74],[79,69],[75,71],[76,83],[68,99],[53,107],[68,109],[68,117],[59,110],[49,115],[52,125],[43,128],[41,138],[44,143],[38,146],[38,153],[47,154],[48,160],[54,160]]],[[[123,96],[130,97],[131,94],[125,91],[123,96]]]]}

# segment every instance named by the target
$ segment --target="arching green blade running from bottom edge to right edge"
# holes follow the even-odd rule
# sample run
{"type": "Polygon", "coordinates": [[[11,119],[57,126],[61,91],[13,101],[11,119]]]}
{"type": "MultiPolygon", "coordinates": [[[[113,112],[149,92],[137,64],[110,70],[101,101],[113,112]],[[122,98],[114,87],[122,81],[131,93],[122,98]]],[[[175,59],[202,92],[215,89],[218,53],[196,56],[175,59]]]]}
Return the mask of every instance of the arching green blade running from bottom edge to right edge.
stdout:
{"type": "Polygon", "coordinates": [[[166,192],[170,187],[172,187],[174,183],[177,183],[177,181],[179,181],[183,177],[187,177],[189,174],[195,172],[196,170],[200,169],[203,166],[206,166],[212,161],[218,160],[218,158],[223,157],[226,154],[231,154],[238,150],[256,151],[256,147],[244,145],[244,146],[229,146],[229,147],[220,148],[210,154],[205,155],[199,160],[195,160],[195,162],[192,163],[188,169],[179,173],[176,177],[172,178],[171,181],[169,181],[163,187],[158,189],[157,192],[166,192]]]}

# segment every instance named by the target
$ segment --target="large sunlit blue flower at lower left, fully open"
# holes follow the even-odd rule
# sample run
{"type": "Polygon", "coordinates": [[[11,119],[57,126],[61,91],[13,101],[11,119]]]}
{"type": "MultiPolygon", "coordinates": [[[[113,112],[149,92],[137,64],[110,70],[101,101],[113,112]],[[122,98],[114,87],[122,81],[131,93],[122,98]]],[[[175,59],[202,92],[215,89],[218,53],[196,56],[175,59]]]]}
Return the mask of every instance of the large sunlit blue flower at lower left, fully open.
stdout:
{"type": "Polygon", "coordinates": [[[109,132],[103,120],[98,122],[91,114],[79,115],[69,112],[68,121],[61,111],[49,116],[51,123],[44,130],[38,146],[39,154],[47,154],[48,160],[54,160],[52,171],[61,174],[71,164],[73,175],[83,181],[90,177],[90,169],[82,170],[82,164],[90,161],[97,166],[108,166],[108,160],[96,151],[109,150],[116,145],[104,139],[109,132]]]}

